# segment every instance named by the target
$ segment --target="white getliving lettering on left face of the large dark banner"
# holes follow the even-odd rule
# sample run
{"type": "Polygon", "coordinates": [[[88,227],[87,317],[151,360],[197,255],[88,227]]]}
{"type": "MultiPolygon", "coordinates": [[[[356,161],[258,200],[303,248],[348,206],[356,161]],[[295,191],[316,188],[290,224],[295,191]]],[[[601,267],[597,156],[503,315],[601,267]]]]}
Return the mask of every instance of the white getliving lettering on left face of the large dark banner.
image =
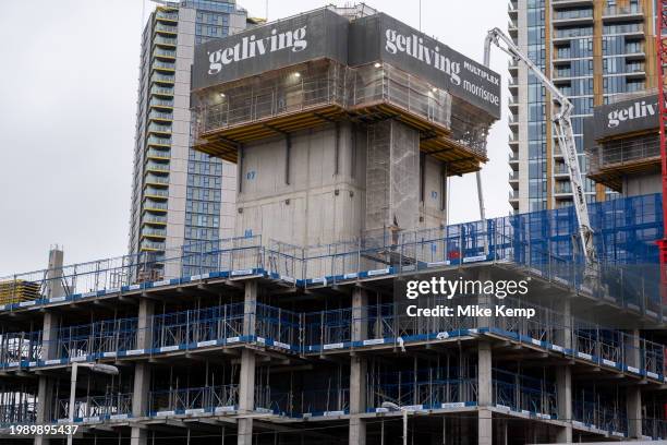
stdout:
{"type": "Polygon", "coordinates": [[[255,35],[246,36],[237,45],[208,52],[208,74],[214,75],[222,71],[225,65],[241,60],[252,59],[264,56],[267,52],[276,52],[283,49],[291,49],[293,52],[303,51],[308,46],[306,40],[306,26],[293,31],[278,33],[271,29],[267,37],[257,38],[255,35]]]}

